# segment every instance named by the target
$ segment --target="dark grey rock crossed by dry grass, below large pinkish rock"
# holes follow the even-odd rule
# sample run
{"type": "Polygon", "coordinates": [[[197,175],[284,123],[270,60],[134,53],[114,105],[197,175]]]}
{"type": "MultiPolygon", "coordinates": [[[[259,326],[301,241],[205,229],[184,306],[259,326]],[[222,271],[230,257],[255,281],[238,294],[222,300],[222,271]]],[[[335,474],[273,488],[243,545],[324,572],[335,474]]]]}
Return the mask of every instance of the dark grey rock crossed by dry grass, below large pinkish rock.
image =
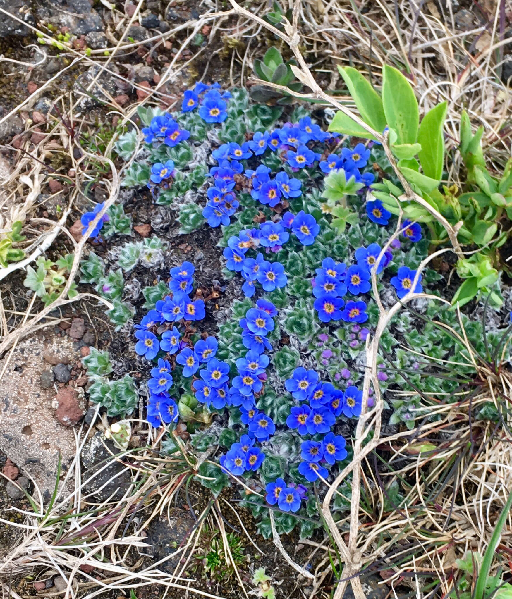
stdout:
{"type": "Polygon", "coordinates": [[[107,500],[110,495],[112,500],[119,501],[130,485],[129,471],[120,462],[113,460],[111,453],[116,455],[119,450],[98,431],[85,444],[80,455],[82,466],[86,470],[82,472],[85,492],[94,494],[95,503],[107,500]],[[91,479],[96,472],[97,476],[91,479]]]}

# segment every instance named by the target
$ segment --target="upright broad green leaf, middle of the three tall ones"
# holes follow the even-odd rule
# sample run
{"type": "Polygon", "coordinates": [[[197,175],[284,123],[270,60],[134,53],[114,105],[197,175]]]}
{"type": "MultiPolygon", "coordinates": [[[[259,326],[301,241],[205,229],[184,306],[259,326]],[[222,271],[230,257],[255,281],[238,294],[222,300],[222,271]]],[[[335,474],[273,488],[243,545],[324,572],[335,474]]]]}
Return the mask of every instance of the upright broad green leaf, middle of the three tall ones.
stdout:
{"type": "Polygon", "coordinates": [[[398,144],[414,144],[418,137],[418,101],[409,81],[393,66],[383,67],[383,107],[387,125],[398,144]]]}

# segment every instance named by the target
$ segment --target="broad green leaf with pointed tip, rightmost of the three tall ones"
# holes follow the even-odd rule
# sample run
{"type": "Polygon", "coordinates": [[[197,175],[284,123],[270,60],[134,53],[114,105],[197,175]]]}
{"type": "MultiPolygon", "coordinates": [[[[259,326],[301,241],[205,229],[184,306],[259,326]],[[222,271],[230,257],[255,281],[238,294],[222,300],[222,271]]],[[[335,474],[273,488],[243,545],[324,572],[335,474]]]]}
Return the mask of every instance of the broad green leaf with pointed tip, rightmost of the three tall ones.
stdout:
{"type": "Polygon", "coordinates": [[[444,136],[442,134],[447,103],[441,102],[425,114],[418,131],[421,151],[418,153],[423,174],[441,180],[444,166],[444,136]]]}

